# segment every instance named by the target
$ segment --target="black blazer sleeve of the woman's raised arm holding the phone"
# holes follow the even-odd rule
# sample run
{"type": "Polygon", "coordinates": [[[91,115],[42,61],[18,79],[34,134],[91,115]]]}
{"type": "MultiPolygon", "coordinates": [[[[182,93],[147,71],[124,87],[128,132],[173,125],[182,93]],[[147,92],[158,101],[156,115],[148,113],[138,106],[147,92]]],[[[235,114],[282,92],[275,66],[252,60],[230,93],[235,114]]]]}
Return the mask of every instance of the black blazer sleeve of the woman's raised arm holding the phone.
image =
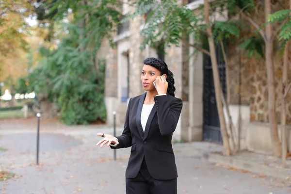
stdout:
{"type": "Polygon", "coordinates": [[[183,101],[179,98],[169,100],[167,96],[156,96],[154,99],[161,134],[172,134],[177,127],[183,107],[183,101]]]}

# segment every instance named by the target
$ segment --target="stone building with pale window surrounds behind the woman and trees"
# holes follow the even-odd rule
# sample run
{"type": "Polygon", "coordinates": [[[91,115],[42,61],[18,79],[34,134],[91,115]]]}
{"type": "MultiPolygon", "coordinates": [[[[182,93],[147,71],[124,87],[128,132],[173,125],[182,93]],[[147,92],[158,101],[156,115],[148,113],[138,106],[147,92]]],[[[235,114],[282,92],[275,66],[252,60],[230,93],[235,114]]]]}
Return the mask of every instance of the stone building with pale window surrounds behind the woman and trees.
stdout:
{"type": "MultiPolygon", "coordinates": [[[[126,0],[125,0],[126,1],[126,0]]],[[[180,0],[194,12],[203,0],[180,0]]],[[[123,15],[132,13],[134,9],[123,5],[123,15]]],[[[227,16],[227,15],[226,15],[227,16]]],[[[225,17],[221,17],[223,20],[225,17]]],[[[130,97],[143,94],[140,75],[143,60],[147,57],[157,57],[153,48],[140,50],[142,38],[140,31],[145,24],[144,17],[136,17],[118,27],[114,41],[117,47],[111,49],[104,41],[98,55],[106,56],[105,103],[107,107],[107,123],[113,123],[113,111],[117,113],[117,124],[123,125],[127,102],[130,97]]],[[[190,36],[189,42],[194,43],[190,36]]],[[[173,72],[175,78],[176,97],[183,100],[183,110],[178,127],[173,138],[177,141],[213,141],[222,142],[219,119],[216,108],[213,75],[210,58],[198,53],[189,54],[195,50],[180,43],[179,47],[165,50],[165,63],[173,72]]],[[[267,76],[263,59],[247,58],[236,47],[228,47],[229,77],[226,80],[226,66],[221,50],[217,49],[219,73],[223,91],[226,94],[226,83],[229,91],[226,94],[230,102],[230,113],[235,125],[236,139],[239,139],[240,149],[260,153],[271,153],[271,134],[267,117],[267,76]]],[[[161,56],[160,56],[161,57],[161,56]]],[[[277,80],[276,92],[279,94],[279,84],[282,76],[282,60],[275,60],[277,80]]],[[[288,99],[291,95],[288,95],[288,99]]],[[[279,100],[277,100],[278,118],[280,116],[279,100]]],[[[287,124],[291,124],[291,100],[288,103],[287,124]]],[[[278,119],[280,120],[280,119],[278,119]]],[[[226,122],[227,118],[226,118],[226,122]]],[[[288,133],[291,136],[291,133],[288,133]]],[[[291,150],[291,138],[289,138],[291,150]]]]}

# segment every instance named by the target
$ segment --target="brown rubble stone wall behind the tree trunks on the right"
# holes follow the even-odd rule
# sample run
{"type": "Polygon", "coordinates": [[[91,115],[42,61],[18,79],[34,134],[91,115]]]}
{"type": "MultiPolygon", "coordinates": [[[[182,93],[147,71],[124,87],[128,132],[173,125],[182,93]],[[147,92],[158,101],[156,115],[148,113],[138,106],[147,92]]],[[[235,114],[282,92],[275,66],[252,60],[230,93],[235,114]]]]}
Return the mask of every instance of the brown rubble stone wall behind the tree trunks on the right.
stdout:
{"type": "MultiPolygon", "coordinates": [[[[287,6],[287,1],[281,3],[287,6]]],[[[262,5],[263,6],[263,5],[262,5]]],[[[264,12],[262,6],[257,9],[260,13],[264,12]]],[[[273,4],[274,11],[279,10],[278,3],[273,4]]],[[[264,15],[253,16],[257,23],[264,22],[264,15]]],[[[251,31],[254,29],[251,26],[251,31]]],[[[243,32],[244,34],[248,33],[243,32]]],[[[275,50],[278,50],[279,43],[275,40],[275,50]]],[[[290,51],[291,52],[291,51],[290,51]]],[[[267,73],[264,58],[249,58],[243,51],[237,47],[230,45],[227,49],[229,58],[229,80],[230,80],[230,103],[232,104],[249,104],[250,120],[268,122],[268,88],[267,73]]],[[[291,56],[291,55],[290,55],[291,56]]],[[[289,57],[290,60],[290,57],[289,57]]],[[[280,97],[282,93],[282,65],[283,59],[279,53],[274,53],[274,72],[275,72],[275,93],[276,93],[276,117],[278,124],[280,123],[281,103],[280,97]]],[[[289,63],[289,71],[290,71],[289,63]]],[[[289,81],[291,74],[289,74],[289,81]]],[[[291,125],[291,91],[286,98],[287,109],[287,125],[291,125]]]]}

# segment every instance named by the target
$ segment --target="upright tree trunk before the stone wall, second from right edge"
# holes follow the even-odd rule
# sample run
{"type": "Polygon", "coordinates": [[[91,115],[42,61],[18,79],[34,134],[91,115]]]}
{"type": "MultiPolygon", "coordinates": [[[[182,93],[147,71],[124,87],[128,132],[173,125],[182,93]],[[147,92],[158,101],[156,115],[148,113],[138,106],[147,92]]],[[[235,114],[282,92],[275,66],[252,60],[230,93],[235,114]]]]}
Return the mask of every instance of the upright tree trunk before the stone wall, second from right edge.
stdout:
{"type": "MultiPolygon", "coordinates": [[[[271,0],[265,0],[265,18],[271,14],[271,0]]],[[[265,41],[265,56],[268,79],[268,109],[269,109],[269,124],[271,129],[271,140],[273,147],[273,155],[281,156],[281,144],[278,136],[276,109],[275,109],[275,76],[273,64],[273,40],[272,40],[272,24],[267,24],[266,27],[266,41],[265,41]]]]}

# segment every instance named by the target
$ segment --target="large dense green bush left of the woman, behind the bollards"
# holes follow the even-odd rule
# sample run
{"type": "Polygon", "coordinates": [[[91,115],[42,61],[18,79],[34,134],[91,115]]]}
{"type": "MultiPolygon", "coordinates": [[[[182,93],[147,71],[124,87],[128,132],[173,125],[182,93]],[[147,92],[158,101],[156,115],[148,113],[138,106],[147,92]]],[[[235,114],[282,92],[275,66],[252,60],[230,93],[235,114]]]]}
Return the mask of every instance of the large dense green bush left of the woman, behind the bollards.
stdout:
{"type": "Polygon", "coordinates": [[[60,119],[65,124],[104,120],[105,61],[100,61],[97,68],[92,61],[93,51],[76,48],[75,38],[80,31],[71,29],[70,32],[58,49],[41,49],[45,57],[29,75],[30,86],[37,95],[45,95],[51,101],[57,99],[60,119]]]}

